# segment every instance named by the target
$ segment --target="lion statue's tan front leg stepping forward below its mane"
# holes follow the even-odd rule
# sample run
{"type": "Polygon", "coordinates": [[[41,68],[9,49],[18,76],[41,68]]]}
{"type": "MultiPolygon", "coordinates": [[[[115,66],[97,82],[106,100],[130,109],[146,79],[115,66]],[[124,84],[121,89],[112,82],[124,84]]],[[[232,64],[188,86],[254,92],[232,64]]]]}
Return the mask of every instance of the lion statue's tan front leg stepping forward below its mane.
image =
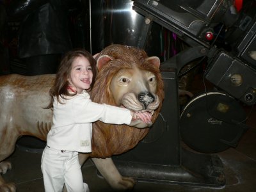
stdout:
{"type": "Polygon", "coordinates": [[[118,191],[126,191],[134,187],[134,179],[120,175],[110,157],[106,159],[92,158],[92,161],[111,188],[118,191]]]}

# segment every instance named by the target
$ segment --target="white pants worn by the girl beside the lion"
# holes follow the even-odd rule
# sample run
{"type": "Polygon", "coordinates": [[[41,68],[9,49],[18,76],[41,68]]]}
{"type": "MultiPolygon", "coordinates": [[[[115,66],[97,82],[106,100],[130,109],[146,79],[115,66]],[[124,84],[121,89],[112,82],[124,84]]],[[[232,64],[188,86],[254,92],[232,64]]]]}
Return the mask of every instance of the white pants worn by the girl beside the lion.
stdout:
{"type": "Polygon", "coordinates": [[[45,147],[41,168],[46,192],[61,192],[64,184],[68,192],[89,192],[88,185],[83,183],[77,152],[45,147]]]}

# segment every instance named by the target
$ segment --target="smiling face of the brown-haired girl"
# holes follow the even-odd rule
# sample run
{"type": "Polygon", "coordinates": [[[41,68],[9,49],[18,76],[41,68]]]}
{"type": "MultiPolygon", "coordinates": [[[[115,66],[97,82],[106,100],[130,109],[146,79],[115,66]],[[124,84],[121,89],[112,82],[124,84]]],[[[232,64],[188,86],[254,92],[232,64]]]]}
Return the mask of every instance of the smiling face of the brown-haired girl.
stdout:
{"type": "Polygon", "coordinates": [[[74,91],[82,93],[83,90],[90,88],[92,83],[92,67],[87,58],[84,56],[77,57],[71,67],[68,82],[74,91]]]}

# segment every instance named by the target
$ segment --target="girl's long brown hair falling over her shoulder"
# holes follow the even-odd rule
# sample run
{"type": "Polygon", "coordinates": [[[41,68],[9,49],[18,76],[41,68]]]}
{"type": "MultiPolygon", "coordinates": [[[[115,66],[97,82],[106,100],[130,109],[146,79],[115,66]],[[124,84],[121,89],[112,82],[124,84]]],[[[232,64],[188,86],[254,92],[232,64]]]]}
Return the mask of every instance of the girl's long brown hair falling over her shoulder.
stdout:
{"type": "Polygon", "coordinates": [[[47,109],[53,108],[54,97],[57,97],[58,102],[61,103],[60,97],[62,99],[65,99],[65,96],[74,96],[77,94],[77,93],[68,92],[68,86],[69,86],[68,79],[71,74],[72,63],[78,57],[84,57],[88,59],[92,67],[93,79],[92,79],[90,88],[88,88],[88,90],[86,91],[90,92],[92,90],[92,87],[95,83],[95,79],[97,76],[96,61],[94,60],[92,54],[90,54],[90,52],[88,51],[85,51],[84,49],[74,49],[72,51],[68,51],[61,60],[60,66],[58,68],[58,72],[56,73],[55,82],[49,91],[51,101],[49,105],[46,107],[47,109]]]}

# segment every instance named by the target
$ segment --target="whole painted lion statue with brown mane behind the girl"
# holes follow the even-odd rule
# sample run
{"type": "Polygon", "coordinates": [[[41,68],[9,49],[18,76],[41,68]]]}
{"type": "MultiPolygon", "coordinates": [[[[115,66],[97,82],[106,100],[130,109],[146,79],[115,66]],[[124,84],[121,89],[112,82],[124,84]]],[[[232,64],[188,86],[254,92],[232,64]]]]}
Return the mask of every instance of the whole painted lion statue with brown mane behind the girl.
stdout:
{"type": "MultiPolygon", "coordinates": [[[[159,71],[160,60],[135,47],[109,45],[96,58],[98,74],[91,98],[94,102],[148,111],[152,124],[156,121],[164,99],[164,85],[159,71]]],[[[46,140],[51,129],[52,111],[44,109],[49,103],[49,89],[55,75],[0,76],[0,173],[11,168],[4,161],[15,149],[22,135],[46,140]]],[[[134,120],[128,125],[93,123],[92,153],[79,154],[81,164],[88,158],[116,190],[132,189],[134,179],[118,172],[111,156],[136,147],[152,124],[134,120]]],[[[6,183],[0,175],[0,191],[15,191],[15,185],[6,183]]]]}

